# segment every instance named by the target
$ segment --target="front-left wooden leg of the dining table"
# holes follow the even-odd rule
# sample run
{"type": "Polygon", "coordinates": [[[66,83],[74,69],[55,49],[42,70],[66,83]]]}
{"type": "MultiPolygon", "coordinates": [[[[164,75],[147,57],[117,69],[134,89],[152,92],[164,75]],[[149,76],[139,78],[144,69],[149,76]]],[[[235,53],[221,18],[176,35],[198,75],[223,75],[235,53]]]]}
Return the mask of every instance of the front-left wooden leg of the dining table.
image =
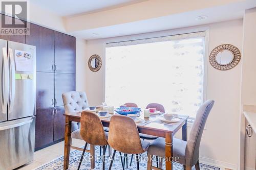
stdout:
{"type": "Polygon", "coordinates": [[[66,116],[65,125],[65,147],[64,147],[64,167],[63,169],[69,168],[69,154],[70,154],[70,142],[71,142],[71,121],[69,116],[66,116]]]}

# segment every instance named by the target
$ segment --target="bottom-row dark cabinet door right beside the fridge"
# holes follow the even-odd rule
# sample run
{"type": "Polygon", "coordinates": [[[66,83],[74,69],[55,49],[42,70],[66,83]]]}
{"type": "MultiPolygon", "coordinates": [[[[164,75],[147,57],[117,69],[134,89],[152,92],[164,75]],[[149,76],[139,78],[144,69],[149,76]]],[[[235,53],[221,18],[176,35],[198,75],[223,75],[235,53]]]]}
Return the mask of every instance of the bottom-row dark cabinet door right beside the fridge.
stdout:
{"type": "Polygon", "coordinates": [[[37,109],[35,116],[35,148],[53,142],[54,109],[37,109]]]}

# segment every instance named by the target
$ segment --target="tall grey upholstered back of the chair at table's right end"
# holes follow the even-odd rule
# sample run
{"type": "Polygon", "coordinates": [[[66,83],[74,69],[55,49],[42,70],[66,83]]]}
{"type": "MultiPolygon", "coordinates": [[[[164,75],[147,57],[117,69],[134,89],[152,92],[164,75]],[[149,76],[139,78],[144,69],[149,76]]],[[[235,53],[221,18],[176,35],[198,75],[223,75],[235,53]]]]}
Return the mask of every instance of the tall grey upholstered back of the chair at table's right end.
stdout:
{"type": "Polygon", "coordinates": [[[186,165],[193,166],[199,159],[199,147],[204,126],[211,108],[214,106],[213,100],[203,103],[197,111],[197,116],[191,128],[189,140],[186,145],[186,165]]]}

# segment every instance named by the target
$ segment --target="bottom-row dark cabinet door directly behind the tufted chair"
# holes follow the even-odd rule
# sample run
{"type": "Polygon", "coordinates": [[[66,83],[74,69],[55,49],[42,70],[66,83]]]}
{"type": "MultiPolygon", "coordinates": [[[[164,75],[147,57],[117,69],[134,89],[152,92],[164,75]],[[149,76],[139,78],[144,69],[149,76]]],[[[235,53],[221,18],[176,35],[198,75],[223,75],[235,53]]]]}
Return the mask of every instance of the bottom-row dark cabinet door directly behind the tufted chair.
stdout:
{"type": "Polygon", "coordinates": [[[64,106],[54,108],[54,133],[53,140],[59,140],[65,136],[65,113],[64,106]]]}

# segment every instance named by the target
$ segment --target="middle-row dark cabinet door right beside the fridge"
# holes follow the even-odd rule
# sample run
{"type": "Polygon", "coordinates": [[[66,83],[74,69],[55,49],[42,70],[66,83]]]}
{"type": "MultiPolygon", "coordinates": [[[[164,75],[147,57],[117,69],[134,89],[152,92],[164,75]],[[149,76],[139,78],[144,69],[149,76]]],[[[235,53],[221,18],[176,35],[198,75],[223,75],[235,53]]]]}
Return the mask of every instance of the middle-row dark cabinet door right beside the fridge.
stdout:
{"type": "Polygon", "coordinates": [[[36,108],[54,107],[54,73],[36,72],[36,108]]]}

